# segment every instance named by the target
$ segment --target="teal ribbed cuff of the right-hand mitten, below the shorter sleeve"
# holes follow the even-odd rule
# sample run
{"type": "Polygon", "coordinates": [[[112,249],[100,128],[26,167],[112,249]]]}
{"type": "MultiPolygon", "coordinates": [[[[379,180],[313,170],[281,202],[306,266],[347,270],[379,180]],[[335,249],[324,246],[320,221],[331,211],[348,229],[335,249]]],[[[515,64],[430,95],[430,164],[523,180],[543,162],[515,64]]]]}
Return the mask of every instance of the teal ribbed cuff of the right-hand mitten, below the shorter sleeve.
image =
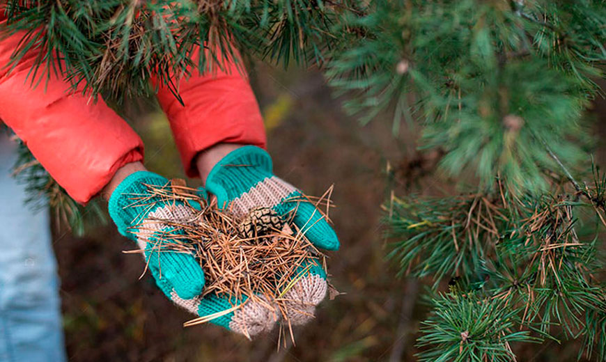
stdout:
{"type": "Polygon", "coordinates": [[[233,150],[212,168],[206,188],[217,196],[219,207],[272,177],[272,159],[265,150],[247,145],[233,150]]]}

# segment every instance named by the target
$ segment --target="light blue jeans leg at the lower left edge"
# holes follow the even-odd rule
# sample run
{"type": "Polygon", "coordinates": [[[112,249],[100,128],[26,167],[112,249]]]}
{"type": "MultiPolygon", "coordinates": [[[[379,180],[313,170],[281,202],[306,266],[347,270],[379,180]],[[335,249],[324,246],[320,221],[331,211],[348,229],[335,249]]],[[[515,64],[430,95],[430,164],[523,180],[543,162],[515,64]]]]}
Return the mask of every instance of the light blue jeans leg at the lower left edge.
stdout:
{"type": "Polygon", "coordinates": [[[48,212],[24,205],[24,186],[10,176],[14,162],[15,145],[0,134],[0,362],[63,362],[48,212]]]}

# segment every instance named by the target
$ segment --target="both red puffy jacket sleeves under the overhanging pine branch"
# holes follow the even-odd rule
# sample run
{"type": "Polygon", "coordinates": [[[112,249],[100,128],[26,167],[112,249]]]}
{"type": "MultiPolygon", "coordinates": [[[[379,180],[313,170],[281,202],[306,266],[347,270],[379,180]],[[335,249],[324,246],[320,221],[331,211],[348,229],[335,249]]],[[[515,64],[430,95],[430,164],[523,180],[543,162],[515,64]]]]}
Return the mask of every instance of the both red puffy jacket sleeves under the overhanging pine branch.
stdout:
{"type": "MultiPolygon", "coordinates": [[[[0,8],[0,27],[6,22],[0,8]]],[[[143,160],[143,143],[132,128],[102,100],[93,103],[69,91],[54,76],[32,88],[26,80],[36,54],[27,54],[10,72],[6,68],[22,34],[0,41],[0,119],[22,139],[40,164],[79,203],[98,194],[114,173],[143,160]]],[[[192,164],[198,152],[216,143],[265,147],[261,112],[235,64],[224,72],[199,74],[180,81],[185,107],[166,88],[157,98],[171,123],[183,167],[199,176],[192,164]]]]}

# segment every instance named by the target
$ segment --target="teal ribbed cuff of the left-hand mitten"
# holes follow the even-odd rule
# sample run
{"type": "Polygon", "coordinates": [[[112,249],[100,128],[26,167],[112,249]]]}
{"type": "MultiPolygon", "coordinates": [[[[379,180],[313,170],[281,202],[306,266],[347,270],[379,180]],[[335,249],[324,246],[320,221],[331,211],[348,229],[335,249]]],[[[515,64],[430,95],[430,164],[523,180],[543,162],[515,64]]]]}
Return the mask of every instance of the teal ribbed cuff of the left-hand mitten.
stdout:
{"type": "Polygon", "coordinates": [[[127,230],[136,225],[137,220],[141,221],[145,218],[146,214],[153,211],[146,210],[143,214],[149,202],[139,203],[140,206],[134,206],[137,205],[137,200],[134,198],[148,192],[146,184],[162,187],[168,183],[168,179],[153,172],[137,171],[118,184],[118,187],[111,193],[108,209],[109,216],[114,220],[114,223],[118,226],[118,231],[122,235],[132,238],[132,233],[127,233],[127,230]]]}

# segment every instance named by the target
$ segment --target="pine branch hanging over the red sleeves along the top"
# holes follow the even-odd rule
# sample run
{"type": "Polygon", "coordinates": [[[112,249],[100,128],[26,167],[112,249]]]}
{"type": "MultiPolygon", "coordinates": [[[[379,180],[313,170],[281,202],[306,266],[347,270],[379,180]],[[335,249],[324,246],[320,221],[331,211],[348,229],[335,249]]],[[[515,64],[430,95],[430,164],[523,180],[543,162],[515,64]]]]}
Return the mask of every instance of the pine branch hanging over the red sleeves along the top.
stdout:
{"type": "Polygon", "coordinates": [[[236,58],[233,45],[284,64],[322,61],[338,39],[330,29],[343,6],[302,0],[10,0],[1,31],[22,31],[13,66],[30,50],[38,52],[32,81],[56,72],[84,92],[122,99],[150,94],[153,80],[178,96],[175,74],[221,68],[226,57],[236,58]],[[199,46],[205,52],[197,56],[199,46]]]}

